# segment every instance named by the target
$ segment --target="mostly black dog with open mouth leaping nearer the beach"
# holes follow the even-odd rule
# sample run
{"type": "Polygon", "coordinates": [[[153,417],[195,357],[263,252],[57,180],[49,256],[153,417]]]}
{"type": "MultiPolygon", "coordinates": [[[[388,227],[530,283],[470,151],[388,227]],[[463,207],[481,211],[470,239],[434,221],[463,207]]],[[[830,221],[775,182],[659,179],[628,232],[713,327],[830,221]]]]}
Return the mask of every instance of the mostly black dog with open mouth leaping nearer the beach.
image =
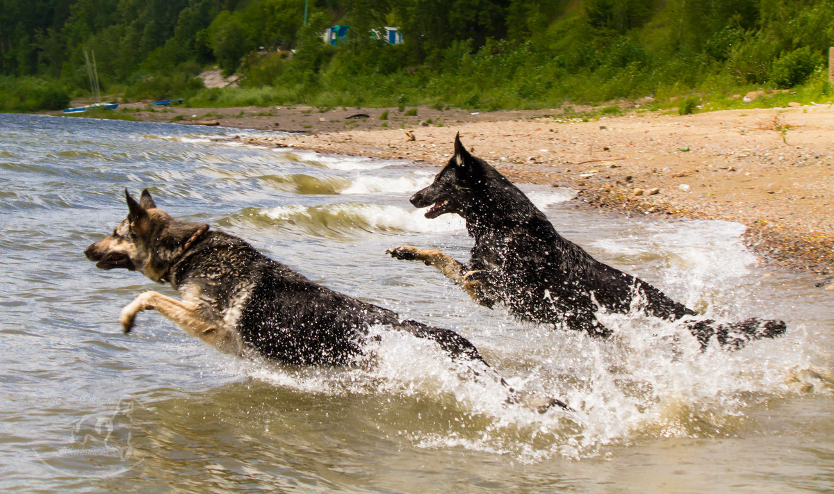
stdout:
{"type": "Polygon", "coordinates": [[[781,320],[718,323],[698,317],[646,281],[595,260],[556,233],[545,214],[510,180],[470,154],[460,135],[455,137],[455,154],[434,183],[410,200],[418,208],[431,206],[426,218],[460,214],[475,239],[470,260],[464,265],[439,250],[409,245],[390,249],[389,254],[434,265],[475,302],[488,307],[500,303],[522,320],[605,337],[612,331],[597,319],[597,312],[627,313],[637,300],[648,315],[681,320],[702,348],[716,339],[732,350],[785,332],[781,320]]]}

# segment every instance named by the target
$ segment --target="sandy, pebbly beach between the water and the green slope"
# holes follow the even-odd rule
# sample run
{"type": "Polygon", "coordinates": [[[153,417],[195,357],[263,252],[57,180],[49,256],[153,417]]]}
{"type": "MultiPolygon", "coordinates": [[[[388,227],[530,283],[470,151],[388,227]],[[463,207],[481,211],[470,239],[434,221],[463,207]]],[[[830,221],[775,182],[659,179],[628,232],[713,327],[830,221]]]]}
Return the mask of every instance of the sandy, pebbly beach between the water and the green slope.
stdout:
{"type": "Polygon", "coordinates": [[[249,144],[430,164],[445,164],[460,132],[468,148],[515,182],[578,190],[577,207],[745,224],[746,243],[762,262],[807,271],[834,289],[830,104],[684,116],[624,108],[620,116],[598,119],[570,118],[590,109],[578,107],[572,113],[301,106],[148,111],[133,104],[142,120],[290,133],[236,138],[249,144]]]}

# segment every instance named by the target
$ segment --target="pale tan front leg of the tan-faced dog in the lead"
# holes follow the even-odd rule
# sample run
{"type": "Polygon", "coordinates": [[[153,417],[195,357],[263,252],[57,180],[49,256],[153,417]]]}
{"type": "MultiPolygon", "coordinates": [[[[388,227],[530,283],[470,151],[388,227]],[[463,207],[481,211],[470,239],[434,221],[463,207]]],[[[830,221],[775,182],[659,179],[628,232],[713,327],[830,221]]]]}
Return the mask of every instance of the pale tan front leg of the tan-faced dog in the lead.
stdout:
{"type": "Polygon", "coordinates": [[[156,291],[146,291],[123,307],[119,322],[122,323],[125,333],[133,329],[136,315],[143,310],[156,310],[176,323],[188,335],[196,336],[219,350],[234,355],[243,351],[243,343],[237,332],[206,318],[199,305],[173,299],[156,291]]]}

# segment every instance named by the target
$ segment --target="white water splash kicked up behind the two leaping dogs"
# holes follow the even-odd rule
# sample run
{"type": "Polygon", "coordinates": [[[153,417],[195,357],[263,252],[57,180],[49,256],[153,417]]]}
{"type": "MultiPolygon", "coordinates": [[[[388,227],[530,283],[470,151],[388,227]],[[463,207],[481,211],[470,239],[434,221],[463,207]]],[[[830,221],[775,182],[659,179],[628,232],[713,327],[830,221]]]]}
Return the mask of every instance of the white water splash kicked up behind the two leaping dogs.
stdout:
{"type": "Polygon", "coordinates": [[[414,446],[530,463],[597,456],[642,437],[726,436],[744,426],[751,408],[800,391],[834,390],[834,377],[812,362],[814,347],[801,332],[732,353],[701,352],[681,325],[638,311],[600,319],[616,328],[615,338],[528,326],[505,328],[512,347],[475,340],[491,370],[455,364],[429,340],[379,328],[379,340],[366,345],[369,356],[353,368],[272,365],[247,374],[304,392],[426,401],[420,421],[406,431],[414,446]],[[516,390],[559,397],[575,411],[538,414],[510,405],[498,373],[516,390]]]}

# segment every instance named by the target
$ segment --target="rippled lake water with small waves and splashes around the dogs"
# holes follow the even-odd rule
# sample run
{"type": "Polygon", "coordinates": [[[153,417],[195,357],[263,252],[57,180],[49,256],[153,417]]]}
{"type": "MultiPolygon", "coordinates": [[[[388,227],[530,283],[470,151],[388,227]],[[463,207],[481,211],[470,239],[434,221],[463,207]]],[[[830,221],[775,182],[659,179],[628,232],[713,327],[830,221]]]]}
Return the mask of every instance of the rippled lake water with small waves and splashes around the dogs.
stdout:
{"type": "Polygon", "coordinates": [[[212,140],[241,133],[0,115],[0,488],[834,489],[834,294],[757,267],[741,225],[590,214],[568,190],[523,187],[561,234],[677,300],[788,323],[734,353],[700,353],[643,315],[609,315],[617,336],[591,340],[475,306],[435,270],[384,254],[415,244],[468,258],[460,219],[408,203],[435,167],[212,140]],[[513,386],[576,411],[506,406],[500,386],[403,335],[335,369],[221,355],[153,312],[122,335],[135,295],[175,295],[83,256],[125,216],[125,187],[324,285],[458,330],[513,386]]]}

